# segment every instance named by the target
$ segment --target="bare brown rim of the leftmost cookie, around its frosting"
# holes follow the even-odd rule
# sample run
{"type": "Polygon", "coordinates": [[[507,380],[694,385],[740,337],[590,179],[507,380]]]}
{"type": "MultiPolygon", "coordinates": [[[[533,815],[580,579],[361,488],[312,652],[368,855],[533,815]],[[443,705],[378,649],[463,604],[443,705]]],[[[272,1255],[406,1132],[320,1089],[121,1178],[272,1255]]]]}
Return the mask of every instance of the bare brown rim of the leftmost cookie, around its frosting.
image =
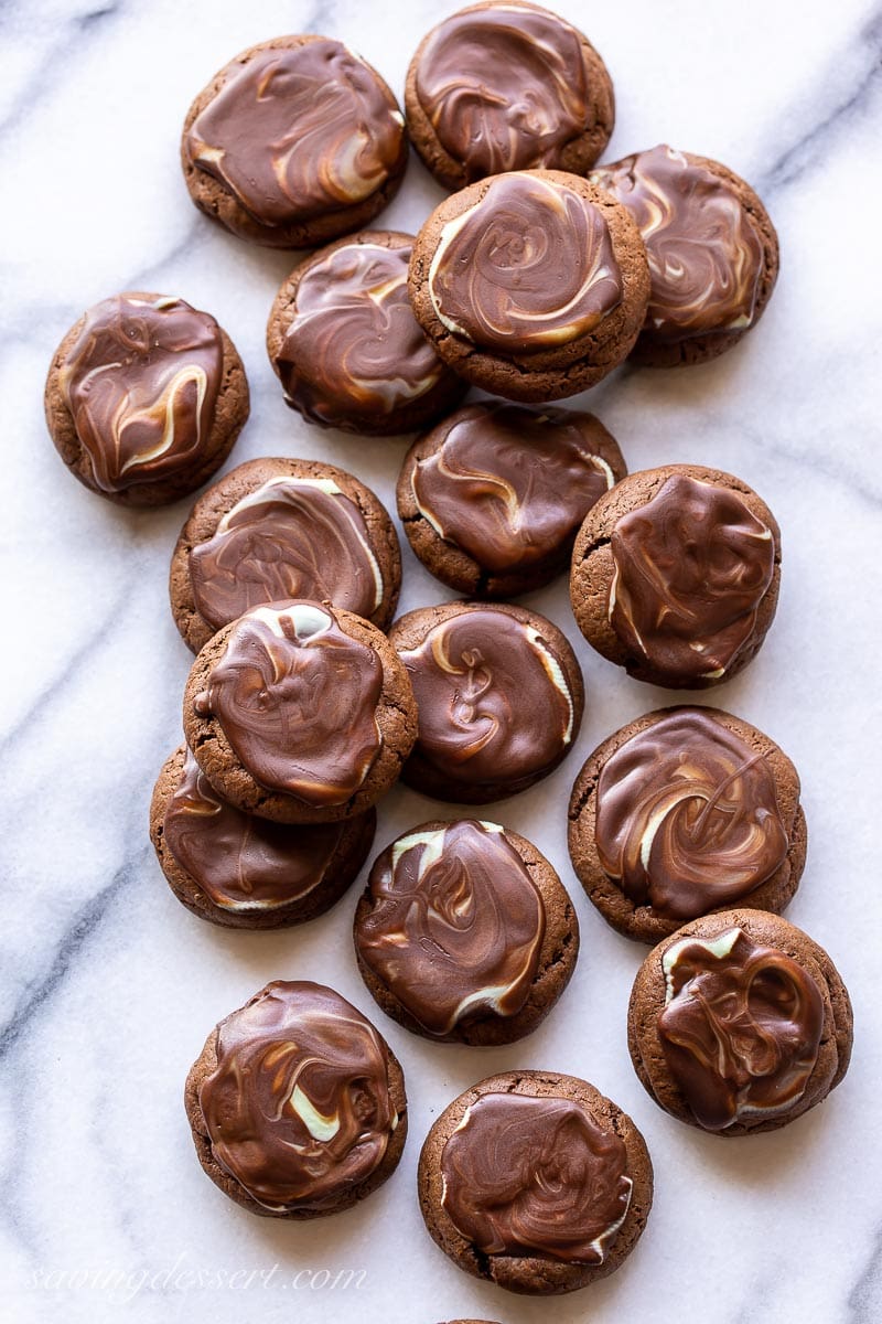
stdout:
{"type": "MultiPolygon", "coordinates": [[[[127,298],[148,299],[151,302],[160,298],[159,294],[148,294],[143,290],[126,290],[124,294],[127,298]]],[[[242,360],[229,335],[223,327],[218,327],[223,343],[221,384],[214,406],[212,430],[200,454],[181,473],[172,474],[168,478],[157,478],[149,483],[135,483],[118,493],[107,493],[95,483],[89,453],[77,436],[74,418],[67,408],[60,383],[61,369],[79,339],[85,320],[86,315],[83,314],[63,338],[53,355],[49,376],[46,377],[44,399],[46,425],[56,444],[56,450],[65,465],[74,478],[79,479],[83,487],[89,487],[98,496],[112,500],[118,506],[168,506],[171,502],[196,491],[197,487],[208,482],[212,474],[221,467],[249,417],[249,383],[245,376],[242,360]]]]}

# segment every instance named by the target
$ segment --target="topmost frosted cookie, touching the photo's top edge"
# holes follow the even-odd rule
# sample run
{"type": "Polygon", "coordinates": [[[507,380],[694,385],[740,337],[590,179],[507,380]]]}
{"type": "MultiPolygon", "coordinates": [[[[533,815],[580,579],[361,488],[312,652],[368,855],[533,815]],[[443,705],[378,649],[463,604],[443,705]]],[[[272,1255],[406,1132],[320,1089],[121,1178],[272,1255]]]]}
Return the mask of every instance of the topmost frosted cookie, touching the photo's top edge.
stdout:
{"type": "Polygon", "coordinates": [[[411,142],[435,179],[463,188],[504,171],[584,173],[615,123],[612,82],[591,42],[522,0],[451,15],[407,70],[411,142]]]}

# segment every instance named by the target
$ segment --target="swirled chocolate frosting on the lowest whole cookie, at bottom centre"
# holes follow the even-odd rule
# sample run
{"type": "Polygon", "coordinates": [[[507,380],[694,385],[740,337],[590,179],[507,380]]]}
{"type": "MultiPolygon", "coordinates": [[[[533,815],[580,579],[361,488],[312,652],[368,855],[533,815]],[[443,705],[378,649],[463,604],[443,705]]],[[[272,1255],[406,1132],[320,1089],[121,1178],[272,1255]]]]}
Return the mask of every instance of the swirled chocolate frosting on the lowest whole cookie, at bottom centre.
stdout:
{"type": "Polygon", "coordinates": [[[443,1207],[485,1255],[602,1264],[631,1204],[624,1143],[573,1099],[481,1095],[440,1166],[443,1207]]]}

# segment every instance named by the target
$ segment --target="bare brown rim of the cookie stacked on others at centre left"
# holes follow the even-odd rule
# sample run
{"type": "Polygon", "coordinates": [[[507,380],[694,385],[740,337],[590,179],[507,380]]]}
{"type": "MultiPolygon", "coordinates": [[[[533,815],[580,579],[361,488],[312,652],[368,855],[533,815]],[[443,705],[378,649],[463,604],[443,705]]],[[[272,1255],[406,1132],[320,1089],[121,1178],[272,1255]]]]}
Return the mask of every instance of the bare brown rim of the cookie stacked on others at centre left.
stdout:
{"type": "Polygon", "coordinates": [[[206,688],[212,667],[222,657],[235,622],[218,630],[193,663],[184,691],[186,743],[212,786],[245,813],[283,824],[339,822],[341,818],[364,814],[398,780],[401,767],[414,745],[417,702],[407,671],[394,647],[376,625],[360,616],[341,608],[335,608],[335,616],[344,633],[374,649],[382,663],[382,691],[377,706],[382,745],[364,784],[342,805],[308,805],[294,796],[261,785],[239,761],[217,716],[201,716],[196,712],[193,702],[206,688]]]}

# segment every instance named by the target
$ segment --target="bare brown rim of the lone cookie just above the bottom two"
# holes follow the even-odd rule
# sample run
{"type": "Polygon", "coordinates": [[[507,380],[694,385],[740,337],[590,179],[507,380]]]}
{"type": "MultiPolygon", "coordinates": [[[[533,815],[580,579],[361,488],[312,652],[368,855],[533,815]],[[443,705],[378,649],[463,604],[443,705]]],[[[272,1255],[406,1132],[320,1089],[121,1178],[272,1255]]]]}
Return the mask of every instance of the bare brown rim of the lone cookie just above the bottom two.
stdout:
{"type": "MultiPolygon", "coordinates": [[[[432,820],[411,828],[410,833],[435,831],[447,822],[432,820]]],[[[407,835],[410,835],[407,833],[407,835]]],[[[545,937],[540,948],[540,961],[526,1002],[514,1016],[499,1016],[483,1009],[477,1016],[465,1017],[448,1034],[430,1034],[428,1030],[399,1002],[391,989],[362,960],[357,947],[358,928],[372,911],[370,887],[365,887],[354,916],[356,960],[362,980],[378,1006],[413,1034],[436,1043],[469,1043],[477,1046],[514,1043],[538,1029],[566,989],[579,955],[579,922],[573,902],[555,869],[536,846],[509,828],[505,839],[524,861],[541,899],[545,914],[545,937]]]]}

